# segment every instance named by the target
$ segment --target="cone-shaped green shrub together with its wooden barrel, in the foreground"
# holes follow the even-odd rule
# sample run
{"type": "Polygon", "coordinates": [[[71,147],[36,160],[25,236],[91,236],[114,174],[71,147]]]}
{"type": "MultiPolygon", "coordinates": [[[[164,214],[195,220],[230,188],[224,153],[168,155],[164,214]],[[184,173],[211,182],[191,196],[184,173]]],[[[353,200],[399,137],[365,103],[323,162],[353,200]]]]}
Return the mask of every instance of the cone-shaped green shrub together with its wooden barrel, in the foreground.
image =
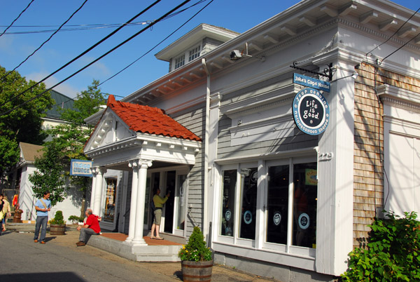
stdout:
{"type": "Polygon", "coordinates": [[[183,281],[211,281],[213,257],[199,227],[194,227],[188,243],[179,250],[183,281]],[[198,278],[198,280],[197,280],[198,278]]]}

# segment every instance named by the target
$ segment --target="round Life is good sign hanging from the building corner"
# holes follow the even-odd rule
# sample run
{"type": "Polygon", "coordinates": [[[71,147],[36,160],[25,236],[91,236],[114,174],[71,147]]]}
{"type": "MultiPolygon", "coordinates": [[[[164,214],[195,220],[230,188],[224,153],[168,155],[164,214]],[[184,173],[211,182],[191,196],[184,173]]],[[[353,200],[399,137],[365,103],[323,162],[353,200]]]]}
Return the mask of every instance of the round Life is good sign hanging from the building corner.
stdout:
{"type": "Polygon", "coordinates": [[[297,128],[309,135],[319,135],[330,122],[330,107],[323,95],[314,88],[300,90],[293,99],[293,119],[297,128]]]}

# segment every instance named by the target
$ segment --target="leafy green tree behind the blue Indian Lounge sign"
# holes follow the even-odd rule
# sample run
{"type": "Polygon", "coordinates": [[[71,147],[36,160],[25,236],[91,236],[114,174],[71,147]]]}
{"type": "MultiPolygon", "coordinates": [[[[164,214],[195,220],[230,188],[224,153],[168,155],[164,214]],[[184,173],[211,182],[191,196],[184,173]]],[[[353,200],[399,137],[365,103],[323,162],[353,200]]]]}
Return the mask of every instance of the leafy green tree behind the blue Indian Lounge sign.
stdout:
{"type": "Polygon", "coordinates": [[[84,119],[98,112],[99,106],[106,103],[98,85],[99,81],[94,80],[92,85],[87,87],[87,90],[78,95],[78,98],[74,101],[73,109],[62,110],[61,117],[68,123],[47,130],[52,140],[45,142],[45,147],[54,148],[59,152],[60,162],[56,165],[69,180],[69,184],[83,192],[80,216],[84,216],[86,191],[90,187],[92,179],[70,175],[69,167],[71,159],[87,160],[83,153],[83,147],[94,128],[85,124],[84,119]]]}

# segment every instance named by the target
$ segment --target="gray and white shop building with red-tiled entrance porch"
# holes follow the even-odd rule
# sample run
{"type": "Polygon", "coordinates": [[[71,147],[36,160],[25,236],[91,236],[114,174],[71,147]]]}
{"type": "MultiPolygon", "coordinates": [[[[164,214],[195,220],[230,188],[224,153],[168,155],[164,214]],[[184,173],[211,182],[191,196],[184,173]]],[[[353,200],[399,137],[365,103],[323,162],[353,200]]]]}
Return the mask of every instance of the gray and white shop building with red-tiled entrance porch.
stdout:
{"type": "Polygon", "coordinates": [[[151,191],[171,190],[165,236],[186,241],[198,225],[217,263],[284,282],[332,281],[382,208],[419,211],[413,14],[385,0],[304,0],[179,64],[226,33],[193,29],[158,53],[168,74],[86,120],[97,124],[85,147],[94,210],[118,199],[109,227],[144,245],[151,191]],[[325,100],[294,73],[328,81],[325,100]],[[312,119],[296,113],[304,91],[314,93],[304,96],[313,98],[307,109],[316,105],[312,119]],[[200,140],[167,130],[162,116],[144,118],[146,105],[200,140]],[[318,125],[316,113],[328,127],[303,133],[298,125],[318,125]],[[110,169],[120,172],[116,189],[104,184],[110,169]]]}

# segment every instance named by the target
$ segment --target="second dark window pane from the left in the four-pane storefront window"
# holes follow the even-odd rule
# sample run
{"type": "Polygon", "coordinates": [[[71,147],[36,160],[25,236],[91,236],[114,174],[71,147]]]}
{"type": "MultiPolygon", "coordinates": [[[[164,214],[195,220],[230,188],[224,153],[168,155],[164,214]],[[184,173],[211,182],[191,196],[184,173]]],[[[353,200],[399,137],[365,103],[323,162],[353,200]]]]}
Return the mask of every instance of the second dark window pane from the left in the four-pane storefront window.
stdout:
{"type": "Polygon", "coordinates": [[[239,237],[255,239],[255,216],[257,211],[257,168],[241,169],[241,221],[239,237]]]}

